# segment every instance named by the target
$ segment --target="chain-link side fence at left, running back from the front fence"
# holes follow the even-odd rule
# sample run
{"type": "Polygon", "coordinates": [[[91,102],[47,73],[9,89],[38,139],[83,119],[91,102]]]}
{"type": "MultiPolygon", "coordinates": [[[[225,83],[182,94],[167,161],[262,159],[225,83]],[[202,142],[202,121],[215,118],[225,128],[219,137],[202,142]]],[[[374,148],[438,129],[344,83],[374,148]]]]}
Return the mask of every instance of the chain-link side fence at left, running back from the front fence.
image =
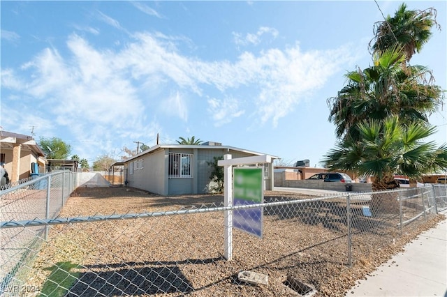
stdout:
{"type": "MultiPolygon", "coordinates": [[[[76,174],[58,172],[27,178],[8,185],[0,192],[0,220],[50,220],[59,215],[66,199],[75,189],[76,174]]],[[[38,224],[29,228],[1,230],[0,292],[27,280],[27,275],[48,236],[49,227],[38,224]]]]}

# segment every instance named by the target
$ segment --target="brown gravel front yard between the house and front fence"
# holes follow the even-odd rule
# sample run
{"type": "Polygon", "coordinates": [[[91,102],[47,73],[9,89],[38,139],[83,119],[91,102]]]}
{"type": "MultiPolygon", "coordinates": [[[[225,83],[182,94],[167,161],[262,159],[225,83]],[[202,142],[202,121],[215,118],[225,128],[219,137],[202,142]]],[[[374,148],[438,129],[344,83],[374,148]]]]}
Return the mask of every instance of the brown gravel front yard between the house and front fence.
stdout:
{"type": "MultiPolygon", "coordinates": [[[[265,192],[266,201],[308,198],[265,192]]],[[[222,195],[162,197],[132,188],[80,188],[59,216],[165,212],[222,202],[222,195]]],[[[328,199],[265,207],[263,238],[235,229],[230,261],[223,258],[222,211],[54,225],[29,283],[43,287],[55,264],[70,262],[78,280],[68,296],[300,296],[286,285],[287,277],[314,287],[314,296],[344,296],[356,280],[441,220],[418,219],[402,236],[396,235],[395,218],[362,225],[353,230],[349,267],[343,205],[343,199],[328,199]],[[268,285],[237,280],[245,270],[268,275],[268,285]]]]}

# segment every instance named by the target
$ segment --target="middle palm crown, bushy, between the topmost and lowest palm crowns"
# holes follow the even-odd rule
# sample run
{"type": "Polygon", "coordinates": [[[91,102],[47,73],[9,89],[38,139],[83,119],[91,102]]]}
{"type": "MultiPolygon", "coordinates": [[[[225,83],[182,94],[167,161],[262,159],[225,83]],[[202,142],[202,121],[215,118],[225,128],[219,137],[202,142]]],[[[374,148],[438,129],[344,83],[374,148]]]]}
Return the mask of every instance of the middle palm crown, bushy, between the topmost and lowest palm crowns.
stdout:
{"type": "Polygon", "coordinates": [[[386,50],[374,66],[347,73],[347,84],[337,96],[328,98],[329,121],[337,137],[359,139],[356,123],[397,115],[404,124],[428,122],[442,102],[442,91],[432,84],[430,70],[423,66],[401,67],[405,57],[400,48],[386,50]]]}

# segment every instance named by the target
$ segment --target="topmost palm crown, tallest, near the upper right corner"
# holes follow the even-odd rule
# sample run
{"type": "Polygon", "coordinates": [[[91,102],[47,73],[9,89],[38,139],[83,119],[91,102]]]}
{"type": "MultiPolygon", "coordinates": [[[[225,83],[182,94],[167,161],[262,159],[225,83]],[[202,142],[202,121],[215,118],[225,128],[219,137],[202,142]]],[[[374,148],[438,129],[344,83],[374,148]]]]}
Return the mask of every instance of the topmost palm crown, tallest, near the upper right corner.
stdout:
{"type": "Polygon", "coordinates": [[[386,50],[399,45],[406,55],[406,61],[410,61],[413,54],[420,52],[423,45],[432,36],[432,26],[440,26],[436,22],[437,10],[407,10],[406,4],[397,9],[393,17],[374,24],[374,38],[369,46],[376,55],[381,55],[386,50]]]}

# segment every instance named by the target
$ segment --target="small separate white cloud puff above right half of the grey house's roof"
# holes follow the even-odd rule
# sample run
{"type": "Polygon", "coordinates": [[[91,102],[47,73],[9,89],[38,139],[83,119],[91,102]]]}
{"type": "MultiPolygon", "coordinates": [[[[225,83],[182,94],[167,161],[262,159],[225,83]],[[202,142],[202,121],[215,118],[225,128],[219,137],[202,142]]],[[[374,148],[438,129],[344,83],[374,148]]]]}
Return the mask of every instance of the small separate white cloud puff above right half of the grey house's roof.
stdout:
{"type": "Polygon", "coordinates": [[[207,102],[207,111],[212,116],[214,126],[216,127],[230,123],[233,119],[245,113],[244,110],[240,109],[239,103],[235,98],[225,98],[223,100],[210,98],[207,102]]]}

